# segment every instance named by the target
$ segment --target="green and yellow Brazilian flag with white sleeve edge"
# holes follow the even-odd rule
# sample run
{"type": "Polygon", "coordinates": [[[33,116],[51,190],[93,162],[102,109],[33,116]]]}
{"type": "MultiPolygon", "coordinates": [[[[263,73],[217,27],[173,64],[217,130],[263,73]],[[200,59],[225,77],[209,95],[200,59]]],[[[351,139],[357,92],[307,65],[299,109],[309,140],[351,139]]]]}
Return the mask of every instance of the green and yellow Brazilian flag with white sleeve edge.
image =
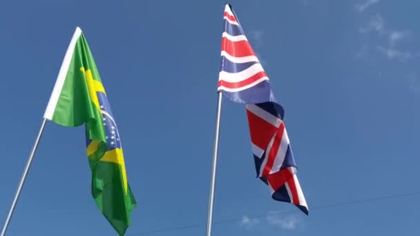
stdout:
{"type": "Polygon", "coordinates": [[[68,127],[84,124],[93,198],[113,228],[124,235],[136,202],[128,186],[117,124],[80,28],[70,41],[44,118],[68,127]]]}

